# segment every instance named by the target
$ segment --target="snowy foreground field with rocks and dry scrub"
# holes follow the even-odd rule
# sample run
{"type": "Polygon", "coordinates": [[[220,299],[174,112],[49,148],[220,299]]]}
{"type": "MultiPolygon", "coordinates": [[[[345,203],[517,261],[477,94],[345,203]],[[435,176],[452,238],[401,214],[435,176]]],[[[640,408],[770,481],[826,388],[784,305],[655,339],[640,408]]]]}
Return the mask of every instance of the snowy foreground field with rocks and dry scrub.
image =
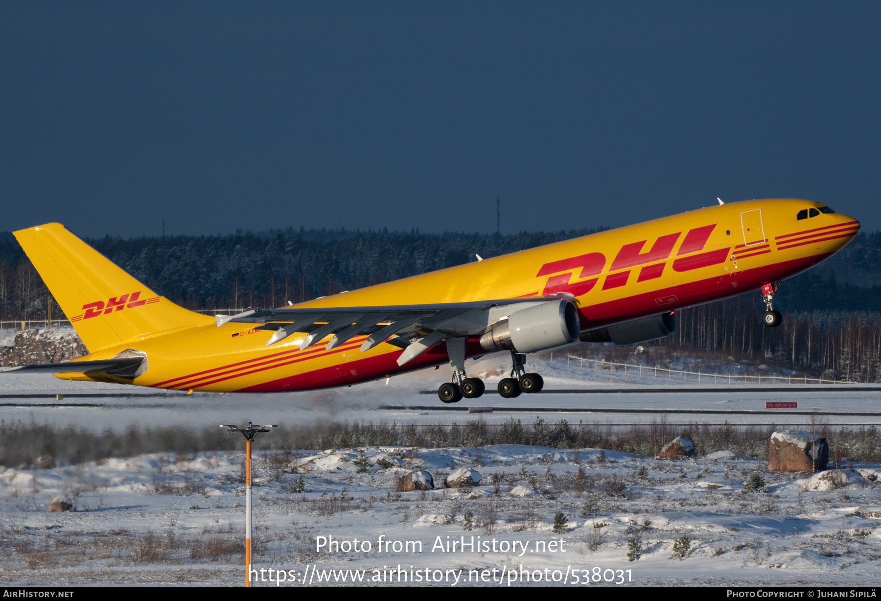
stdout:
{"type": "MultiPolygon", "coordinates": [[[[377,575],[388,581],[398,565],[408,580],[420,573],[422,585],[427,569],[432,586],[564,578],[584,586],[585,577],[589,585],[857,586],[881,577],[878,464],[823,480],[768,473],[764,462],[724,451],[674,461],[517,445],[257,455],[255,568],[267,578],[259,586],[342,585],[352,574],[383,583],[377,575]],[[463,466],[481,474],[478,486],[396,489],[413,468],[441,486],[463,466]],[[766,492],[741,492],[753,474],[766,492]],[[554,531],[558,512],[565,519],[554,531]],[[466,545],[463,553],[472,537],[475,552],[466,545]],[[329,551],[335,541],[348,542],[329,551]],[[269,582],[269,568],[273,580],[285,570],[287,582],[269,582]]],[[[241,584],[243,503],[237,453],[6,469],[0,578],[16,586],[241,584]],[[64,496],[76,510],[48,513],[64,496]]]]}

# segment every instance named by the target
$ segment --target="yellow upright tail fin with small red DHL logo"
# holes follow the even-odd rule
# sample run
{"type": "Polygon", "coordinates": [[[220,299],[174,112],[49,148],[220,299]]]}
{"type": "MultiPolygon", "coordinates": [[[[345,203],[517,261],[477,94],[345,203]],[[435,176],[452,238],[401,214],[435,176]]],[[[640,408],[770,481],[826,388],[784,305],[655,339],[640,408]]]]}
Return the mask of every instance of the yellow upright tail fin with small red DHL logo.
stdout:
{"type": "Polygon", "coordinates": [[[154,293],[60,223],[13,234],[89,352],[213,321],[154,293]]]}

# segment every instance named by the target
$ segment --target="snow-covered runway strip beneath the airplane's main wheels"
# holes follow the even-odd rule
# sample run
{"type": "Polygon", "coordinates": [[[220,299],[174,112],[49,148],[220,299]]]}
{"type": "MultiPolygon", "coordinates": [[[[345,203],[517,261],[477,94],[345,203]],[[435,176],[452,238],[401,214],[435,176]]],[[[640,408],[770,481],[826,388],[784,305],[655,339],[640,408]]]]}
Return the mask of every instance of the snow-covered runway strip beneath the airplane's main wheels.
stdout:
{"type": "MultiPolygon", "coordinates": [[[[621,410],[670,411],[704,410],[707,415],[681,414],[678,423],[762,423],[797,426],[806,423],[803,415],[790,415],[789,410],[766,410],[766,402],[795,401],[798,412],[846,412],[881,414],[881,393],[859,384],[804,386],[770,383],[732,383],[705,376],[675,381],[655,375],[649,369],[615,371],[581,366],[578,360],[530,360],[528,368],[544,376],[541,393],[517,398],[502,398],[496,384],[507,375],[509,358],[505,353],[486,356],[466,363],[471,375],[485,378],[487,393],[478,399],[463,399],[445,405],[433,392],[449,379],[449,367],[428,369],[398,375],[386,384],[382,379],[351,388],[292,392],[278,394],[199,393],[187,395],[180,391],[144,389],[122,384],[98,382],[64,382],[52,375],[0,374],[0,404],[4,419],[24,422],[78,424],[87,427],[125,427],[129,424],[159,426],[185,423],[205,427],[241,419],[255,423],[322,423],[331,421],[414,423],[451,423],[468,419],[469,406],[492,406],[492,413],[483,413],[487,423],[502,422],[511,417],[531,422],[536,414],[530,408],[551,410],[559,419],[585,422],[633,424],[646,423],[644,413],[622,413],[621,410]],[[707,379],[710,381],[707,382],[707,379]],[[645,390],[650,390],[646,392],[645,390]],[[714,391],[707,392],[707,389],[714,391]],[[746,389],[759,389],[759,392],[746,389]],[[819,390],[818,390],[819,389],[819,390]],[[555,394],[553,390],[581,390],[555,394]],[[640,391],[641,390],[641,391],[640,391]],[[669,390],[669,391],[665,391],[669,390]],[[91,395],[94,393],[94,396],[91,395]],[[56,406],[56,394],[64,394],[56,406]],[[72,397],[71,395],[76,395],[72,397]],[[116,397],[115,395],[121,395],[116,397]],[[122,397],[124,395],[125,397],[122,397]],[[83,406],[90,405],[90,406],[83,406]],[[577,411],[576,411],[577,410],[577,411]],[[585,410],[591,410],[585,412],[585,410]],[[559,413],[558,413],[559,411],[559,413]],[[712,412],[759,412],[720,414],[712,412]],[[766,414],[766,415],[762,415],[766,414]]],[[[689,376],[690,378],[692,376],[689,376]]],[[[548,416],[545,415],[545,418],[548,416]]],[[[473,418],[473,416],[472,416],[473,418]]],[[[881,416],[844,416],[829,419],[836,424],[877,424],[881,416]]],[[[797,428],[796,428],[797,429],[797,428]]]]}

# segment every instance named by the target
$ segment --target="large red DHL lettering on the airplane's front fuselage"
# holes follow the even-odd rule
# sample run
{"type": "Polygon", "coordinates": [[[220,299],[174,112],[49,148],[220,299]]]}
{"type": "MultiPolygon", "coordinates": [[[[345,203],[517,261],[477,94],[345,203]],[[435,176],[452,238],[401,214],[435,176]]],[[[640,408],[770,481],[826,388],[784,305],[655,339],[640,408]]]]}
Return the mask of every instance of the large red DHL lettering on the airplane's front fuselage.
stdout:
{"type": "MultiPolygon", "coordinates": [[[[713,233],[716,225],[717,224],[695,227],[689,230],[688,234],[685,234],[685,240],[682,241],[677,256],[689,256],[675,259],[672,264],[673,271],[691,271],[699,269],[700,267],[707,267],[708,265],[725,263],[728,257],[728,252],[731,248],[729,246],[724,249],[701,252],[707,244],[707,240],[709,240],[710,234],[713,233]],[[700,254],[692,255],[692,253],[700,254]]],[[[640,269],[639,276],[636,278],[637,282],[660,278],[667,261],[670,259],[670,254],[673,252],[673,248],[676,246],[681,235],[682,232],[677,232],[675,234],[660,236],[655,243],[652,244],[651,249],[648,249],[646,252],[642,252],[642,249],[645,247],[648,240],[632,242],[622,246],[621,249],[618,250],[618,255],[616,255],[615,259],[611,262],[611,267],[609,268],[610,273],[606,275],[605,280],[603,281],[603,290],[625,286],[627,279],[630,278],[630,272],[633,271],[627,268],[643,266],[640,269]],[[611,271],[614,271],[614,273],[611,273],[611,271]]],[[[544,286],[544,291],[542,291],[543,295],[567,292],[572,293],[575,296],[581,296],[582,294],[589,293],[593,287],[596,286],[596,282],[599,281],[599,278],[590,278],[590,276],[599,276],[603,272],[605,264],[606,257],[603,253],[588,253],[587,255],[571,256],[567,259],[553,261],[552,263],[544,263],[541,269],[538,270],[536,277],[541,278],[542,276],[551,276],[548,278],[547,284],[544,286]],[[574,273],[573,270],[578,269],[581,269],[581,273],[578,275],[579,279],[590,279],[570,283],[569,279],[572,278],[574,273]],[[568,273],[551,275],[552,273],[558,273],[559,271],[568,271],[568,273]]]]}

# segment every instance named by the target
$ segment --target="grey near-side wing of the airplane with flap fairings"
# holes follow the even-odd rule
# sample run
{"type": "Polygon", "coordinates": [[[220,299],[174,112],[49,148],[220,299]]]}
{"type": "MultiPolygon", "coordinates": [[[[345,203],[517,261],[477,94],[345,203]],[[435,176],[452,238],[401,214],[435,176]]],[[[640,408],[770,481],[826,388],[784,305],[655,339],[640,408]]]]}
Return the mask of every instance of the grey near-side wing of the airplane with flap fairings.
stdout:
{"type": "MultiPolygon", "coordinates": [[[[407,348],[419,342],[412,352],[404,352],[400,365],[415,359],[444,338],[466,338],[482,334],[492,323],[505,319],[529,304],[559,301],[560,296],[531,296],[437,303],[429,305],[388,305],[381,307],[272,308],[252,309],[238,315],[216,315],[218,327],[224,323],[260,323],[257,329],[276,330],[266,345],[274,345],[294,333],[304,333],[300,350],[317,344],[329,334],[325,348],[332,349],[352,337],[369,334],[361,352],[382,342],[407,348]],[[403,362],[402,362],[403,360],[403,362]]],[[[568,298],[568,297],[566,297],[568,298]]]]}

